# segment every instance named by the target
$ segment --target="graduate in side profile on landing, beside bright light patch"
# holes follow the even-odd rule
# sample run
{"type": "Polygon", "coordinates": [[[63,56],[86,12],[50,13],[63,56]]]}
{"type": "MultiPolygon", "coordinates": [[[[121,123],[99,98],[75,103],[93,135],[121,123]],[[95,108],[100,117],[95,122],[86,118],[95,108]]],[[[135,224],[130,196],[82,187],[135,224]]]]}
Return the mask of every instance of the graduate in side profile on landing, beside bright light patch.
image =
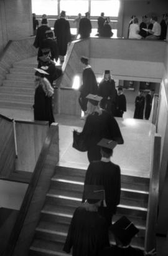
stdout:
{"type": "Polygon", "coordinates": [[[82,86],[80,87],[80,97],[79,104],[82,108],[82,111],[86,112],[87,102],[86,96],[88,94],[98,94],[98,83],[96,81],[95,74],[89,65],[89,60],[86,57],[81,57],[80,62],[83,66],[82,73],[82,86]]]}

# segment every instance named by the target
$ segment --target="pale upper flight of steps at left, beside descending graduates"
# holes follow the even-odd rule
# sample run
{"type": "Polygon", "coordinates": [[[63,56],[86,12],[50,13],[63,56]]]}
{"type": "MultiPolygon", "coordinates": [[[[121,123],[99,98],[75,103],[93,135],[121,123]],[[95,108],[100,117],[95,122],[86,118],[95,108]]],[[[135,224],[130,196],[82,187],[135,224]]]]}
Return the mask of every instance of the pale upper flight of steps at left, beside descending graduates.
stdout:
{"type": "Polygon", "coordinates": [[[34,104],[35,57],[15,62],[0,86],[0,107],[30,110],[34,104]]]}

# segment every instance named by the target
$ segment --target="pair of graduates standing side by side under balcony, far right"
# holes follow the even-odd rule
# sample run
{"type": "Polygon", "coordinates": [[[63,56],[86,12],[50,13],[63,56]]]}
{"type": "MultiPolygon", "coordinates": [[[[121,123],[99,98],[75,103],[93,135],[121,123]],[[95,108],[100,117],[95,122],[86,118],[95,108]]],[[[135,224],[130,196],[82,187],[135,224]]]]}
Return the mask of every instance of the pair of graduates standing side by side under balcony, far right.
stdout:
{"type": "Polygon", "coordinates": [[[152,99],[154,97],[154,90],[151,89],[144,97],[144,92],[139,90],[138,96],[135,99],[134,118],[148,120],[151,114],[152,99]],[[145,107],[146,106],[146,107],[145,107]],[[144,111],[145,107],[145,111],[144,111]]]}

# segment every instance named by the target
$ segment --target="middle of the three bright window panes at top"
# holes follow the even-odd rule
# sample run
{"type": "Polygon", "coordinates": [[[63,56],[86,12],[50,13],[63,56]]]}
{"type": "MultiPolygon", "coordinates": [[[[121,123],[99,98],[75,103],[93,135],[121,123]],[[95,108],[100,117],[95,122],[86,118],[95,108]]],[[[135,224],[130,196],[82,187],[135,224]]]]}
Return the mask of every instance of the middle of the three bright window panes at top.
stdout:
{"type": "Polygon", "coordinates": [[[88,0],[60,0],[60,11],[66,11],[67,16],[84,16],[88,11],[88,0]]]}

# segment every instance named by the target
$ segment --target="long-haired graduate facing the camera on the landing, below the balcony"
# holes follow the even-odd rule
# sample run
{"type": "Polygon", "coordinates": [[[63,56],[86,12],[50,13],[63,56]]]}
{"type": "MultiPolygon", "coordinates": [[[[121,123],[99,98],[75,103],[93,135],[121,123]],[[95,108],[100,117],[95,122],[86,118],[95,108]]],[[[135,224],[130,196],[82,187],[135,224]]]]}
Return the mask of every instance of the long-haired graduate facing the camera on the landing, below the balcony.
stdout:
{"type": "Polygon", "coordinates": [[[105,70],[104,77],[98,87],[98,95],[103,97],[100,107],[114,116],[116,109],[116,89],[113,77],[110,71],[105,70]]]}

